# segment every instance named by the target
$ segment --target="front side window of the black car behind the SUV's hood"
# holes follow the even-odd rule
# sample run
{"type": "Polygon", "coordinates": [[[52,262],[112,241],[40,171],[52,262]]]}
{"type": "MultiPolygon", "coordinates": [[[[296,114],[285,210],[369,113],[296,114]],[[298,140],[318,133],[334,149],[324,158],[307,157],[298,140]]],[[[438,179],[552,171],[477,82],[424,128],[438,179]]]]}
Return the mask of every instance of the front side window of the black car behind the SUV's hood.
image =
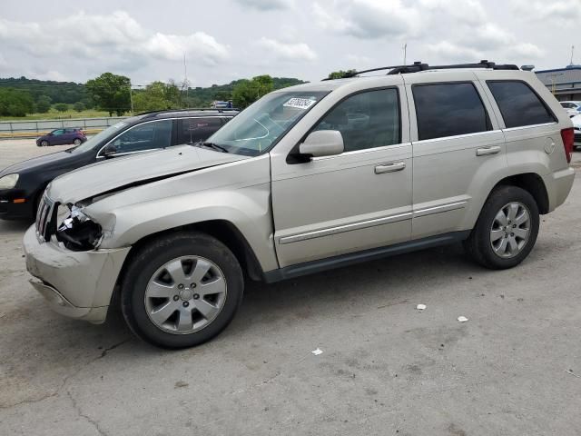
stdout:
{"type": "Polygon", "coordinates": [[[139,124],[113,141],[117,154],[142,152],[172,144],[172,120],[139,124]]]}

